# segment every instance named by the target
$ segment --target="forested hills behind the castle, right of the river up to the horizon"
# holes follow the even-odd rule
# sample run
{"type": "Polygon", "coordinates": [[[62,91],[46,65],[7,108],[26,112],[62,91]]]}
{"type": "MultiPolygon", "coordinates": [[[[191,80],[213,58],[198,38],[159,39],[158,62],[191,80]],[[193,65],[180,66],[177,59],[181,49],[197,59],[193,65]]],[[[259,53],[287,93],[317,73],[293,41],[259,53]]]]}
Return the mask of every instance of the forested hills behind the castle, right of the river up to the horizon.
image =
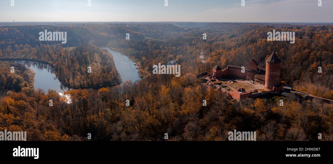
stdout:
{"type": "Polygon", "coordinates": [[[285,84],[333,99],[333,25],[208,23],[202,28],[179,32],[170,38],[119,39],[108,45],[140,60],[142,75],[152,72],[153,63],[170,60],[191,65],[196,75],[210,72],[215,65],[244,66],[251,59],[265,69],[265,59],[275,50],[282,60],[281,80],[285,84]],[[267,41],[267,32],[273,29],[295,31],[297,42],[267,41]],[[207,40],[202,39],[203,33],[207,40]],[[200,50],[205,52],[206,63],[198,60],[200,50]],[[318,67],[322,73],[318,73],[318,67]]]}

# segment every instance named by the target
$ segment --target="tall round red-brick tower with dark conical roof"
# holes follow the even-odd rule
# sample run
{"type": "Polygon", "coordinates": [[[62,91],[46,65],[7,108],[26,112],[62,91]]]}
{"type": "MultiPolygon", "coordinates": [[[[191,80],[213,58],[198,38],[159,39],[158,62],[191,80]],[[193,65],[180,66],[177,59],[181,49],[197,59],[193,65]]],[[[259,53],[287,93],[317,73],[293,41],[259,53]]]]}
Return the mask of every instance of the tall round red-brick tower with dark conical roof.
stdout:
{"type": "Polygon", "coordinates": [[[266,60],[265,90],[273,89],[273,86],[280,84],[280,59],[276,56],[275,51],[266,60]]]}

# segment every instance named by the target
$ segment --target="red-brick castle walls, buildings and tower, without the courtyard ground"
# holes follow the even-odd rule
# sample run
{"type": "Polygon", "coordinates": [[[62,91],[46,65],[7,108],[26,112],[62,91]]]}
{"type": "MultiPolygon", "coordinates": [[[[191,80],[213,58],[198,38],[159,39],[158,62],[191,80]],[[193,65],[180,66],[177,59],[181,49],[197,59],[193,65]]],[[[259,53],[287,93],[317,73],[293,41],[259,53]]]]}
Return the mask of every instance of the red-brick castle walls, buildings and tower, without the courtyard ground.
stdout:
{"type": "MultiPolygon", "coordinates": [[[[265,92],[265,94],[273,92],[276,93],[283,90],[283,84],[281,84],[280,80],[280,67],[281,60],[276,56],[275,51],[273,51],[270,57],[266,60],[266,70],[258,69],[258,63],[254,59],[250,60],[245,65],[245,70],[240,66],[233,65],[228,65],[227,68],[222,70],[219,66],[216,65],[212,68],[212,72],[209,76],[211,79],[209,82],[214,81],[214,84],[216,84],[216,81],[219,82],[218,79],[232,78],[232,80],[243,79],[252,81],[251,83],[253,84],[264,85],[263,90],[259,92],[259,88],[253,89],[253,91],[246,91],[244,87],[235,89],[234,87],[236,86],[232,87],[229,85],[229,87],[227,87],[221,82],[221,87],[237,100],[241,100],[245,97],[258,96],[263,94],[262,92],[265,92]]],[[[251,84],[246,83],[246,85],[251,84]]]]}

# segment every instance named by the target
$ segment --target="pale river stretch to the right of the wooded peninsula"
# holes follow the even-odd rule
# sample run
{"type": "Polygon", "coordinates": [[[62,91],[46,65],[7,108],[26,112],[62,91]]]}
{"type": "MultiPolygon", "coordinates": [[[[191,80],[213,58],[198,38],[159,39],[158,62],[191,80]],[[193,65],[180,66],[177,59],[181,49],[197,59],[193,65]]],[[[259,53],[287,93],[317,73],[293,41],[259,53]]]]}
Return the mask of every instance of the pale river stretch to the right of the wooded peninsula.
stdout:
{"type": "Polygon", "coordinates": [[[122,78],[123,83],[126,81],[136,82],[140,80],[140,74],[136,69],[135,63],[126,55],[122,55],[117,51],[113,51],[108,47],[101,47],[102,49],[108,50],[113,55],[113,60],[115,61],[116,68],[122,78]]]}

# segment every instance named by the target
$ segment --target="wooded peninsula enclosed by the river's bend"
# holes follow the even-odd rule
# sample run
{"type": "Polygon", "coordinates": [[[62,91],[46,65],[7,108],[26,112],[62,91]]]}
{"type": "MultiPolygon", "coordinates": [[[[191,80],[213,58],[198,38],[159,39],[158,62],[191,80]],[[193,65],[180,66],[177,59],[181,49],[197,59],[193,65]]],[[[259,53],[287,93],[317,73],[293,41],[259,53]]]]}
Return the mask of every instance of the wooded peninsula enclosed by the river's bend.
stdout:
{"type": "Polygon", "coordinates": [[[116,86],[122,82],[113,56],[92,43],[67,48],[60,44],[32,48],[26,44],[16,46],[15,51],[8,46],[0,51],[0,59],[27,59],[50,64],[60,82],[74,89],[116,86]]]}

